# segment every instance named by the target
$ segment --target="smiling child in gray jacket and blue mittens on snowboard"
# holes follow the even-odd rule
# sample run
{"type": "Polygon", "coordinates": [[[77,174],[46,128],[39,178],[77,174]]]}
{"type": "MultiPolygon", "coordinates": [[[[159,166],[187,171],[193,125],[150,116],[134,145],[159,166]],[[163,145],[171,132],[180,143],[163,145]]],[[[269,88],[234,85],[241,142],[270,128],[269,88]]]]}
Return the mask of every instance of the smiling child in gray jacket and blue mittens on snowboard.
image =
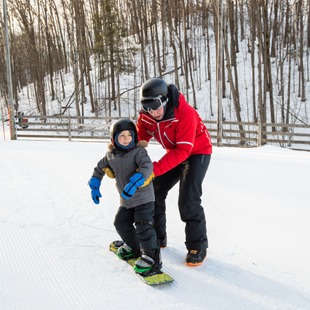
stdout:
{"type": "Polygon", "coordinates": [[[147,142],[138,142],[132,121],[123,118],[113,123],[110,138],[109,151],[94,168],[89,182],[92,199],[99,204],[103,176],[115,176],[121,207],[116,213],[114,226],[124,242],[117,255],[123,260],[140,258],[134,262],[134,270],[146,276],[161,269],[162,265],[153,222],[153,163],[145,149],[147,142]]]}

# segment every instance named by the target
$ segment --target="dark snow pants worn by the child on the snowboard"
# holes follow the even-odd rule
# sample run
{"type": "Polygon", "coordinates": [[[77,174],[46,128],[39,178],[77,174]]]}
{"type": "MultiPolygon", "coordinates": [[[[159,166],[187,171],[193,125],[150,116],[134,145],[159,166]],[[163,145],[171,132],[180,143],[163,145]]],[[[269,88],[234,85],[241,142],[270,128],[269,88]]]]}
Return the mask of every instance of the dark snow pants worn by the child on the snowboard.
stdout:
{"type": "Polygon", "coordinates": [[[154,202],[138,205],[133,208],[119,207],[115,216],[114,226],[122,240],[132,249],[157,249],[158,242],[154,226],[149,224],[136,225],[143,220],[154,222],[154,202]]]}

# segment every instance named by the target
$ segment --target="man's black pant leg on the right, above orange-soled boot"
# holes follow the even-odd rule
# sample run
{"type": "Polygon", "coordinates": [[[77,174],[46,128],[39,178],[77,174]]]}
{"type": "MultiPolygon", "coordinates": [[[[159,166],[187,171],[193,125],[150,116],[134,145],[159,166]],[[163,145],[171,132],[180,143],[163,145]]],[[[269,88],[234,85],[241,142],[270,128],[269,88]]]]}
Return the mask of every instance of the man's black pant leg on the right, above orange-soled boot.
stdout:
{"type": "Polygon", "coordinates": [[[178,207],[185,225],[185,245],[188,250],[208,247],[205,212],[201,206],[202,183],[209,167],[211,155],[189,156],[181,164],[178,207]]]}

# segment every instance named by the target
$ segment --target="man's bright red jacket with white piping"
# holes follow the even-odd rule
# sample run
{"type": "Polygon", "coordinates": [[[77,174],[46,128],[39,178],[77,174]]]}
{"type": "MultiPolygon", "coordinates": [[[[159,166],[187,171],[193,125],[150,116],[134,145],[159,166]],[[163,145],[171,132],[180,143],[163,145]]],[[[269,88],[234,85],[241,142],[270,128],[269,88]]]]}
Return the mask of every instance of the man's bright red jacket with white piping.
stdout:
{"type": "Polygon", "coordinates": [[[179,96],[172,118],[156,121],[142,110],[136,130],[139,141],[148,142],[153,137],[167,150],[167,154],[160,161],[153,163],[155,176],[164,174],[191,155],[212,153],[209,132],[183,94],[179,96]]]}

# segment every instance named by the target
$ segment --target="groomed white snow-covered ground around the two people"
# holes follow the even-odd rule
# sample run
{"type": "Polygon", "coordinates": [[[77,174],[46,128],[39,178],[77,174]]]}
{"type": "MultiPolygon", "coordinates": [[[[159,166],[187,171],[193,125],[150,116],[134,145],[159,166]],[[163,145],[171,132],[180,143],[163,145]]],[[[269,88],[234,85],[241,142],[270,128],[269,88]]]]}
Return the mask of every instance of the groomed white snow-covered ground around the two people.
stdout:
{"type": "MultiPolygon", "coordinates": [[[[216,148],[203,183],[209,249],[185,265],[178,187],[163,269],[145,285],[109,251],[114,180],[87,186],[107,143],[0,141],[0,309],[310,309],[310,154],[216,148]]],[[[156,161],[164,151],[149,145],[156,161]]]]}

